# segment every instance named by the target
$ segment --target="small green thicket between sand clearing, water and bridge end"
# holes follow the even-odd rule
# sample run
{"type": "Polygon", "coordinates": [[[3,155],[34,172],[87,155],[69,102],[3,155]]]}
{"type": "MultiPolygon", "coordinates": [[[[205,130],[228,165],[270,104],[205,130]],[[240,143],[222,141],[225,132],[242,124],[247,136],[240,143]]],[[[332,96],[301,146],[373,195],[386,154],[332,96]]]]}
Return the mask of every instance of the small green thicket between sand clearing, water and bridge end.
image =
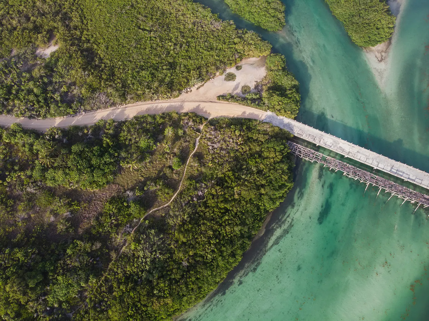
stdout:
{"type": "Polygon", "coordinates": [[[259,93],[248,93],[245,97],[227,94],[218,96],[218,100],[236,102],[265,111],[270,110],[280,116],[295,118],[301,101],[299,83],[287,71],[284,56],[270,54],[265,67],[267,74],[256,86],[260,88],[259,93]]]}

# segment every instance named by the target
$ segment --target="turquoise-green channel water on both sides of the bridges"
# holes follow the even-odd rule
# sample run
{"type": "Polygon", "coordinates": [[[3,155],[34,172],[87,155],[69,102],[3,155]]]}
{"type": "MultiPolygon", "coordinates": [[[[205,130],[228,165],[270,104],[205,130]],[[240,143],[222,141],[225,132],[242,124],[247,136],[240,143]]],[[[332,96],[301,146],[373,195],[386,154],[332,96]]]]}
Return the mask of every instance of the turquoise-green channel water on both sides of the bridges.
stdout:
{"type": "MultiPolygon", "coordinates": [[[[301,84],[298,119],[429,171],[429,2],[410,0],[379,85],[321,0],[285,1],[287,27],[253,29],[301,84]]],[[[429,320],[428,211],[299,161],[296,183],[241,264],[181,320],[429,320]],[[365,192],[365,193],[364,193],[365,192]],[[425,215],[426,213],[426,215],[425,215]]]]}

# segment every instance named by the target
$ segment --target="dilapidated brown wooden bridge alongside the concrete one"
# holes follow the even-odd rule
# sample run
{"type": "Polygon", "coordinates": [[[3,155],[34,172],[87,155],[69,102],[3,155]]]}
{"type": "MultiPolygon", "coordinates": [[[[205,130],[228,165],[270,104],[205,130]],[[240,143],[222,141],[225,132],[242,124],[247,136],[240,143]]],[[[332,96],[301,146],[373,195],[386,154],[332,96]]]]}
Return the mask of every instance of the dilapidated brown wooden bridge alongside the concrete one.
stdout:
{"type": "Polygon", "coordinates": [[[404,204],[406,201],[410,201],[413,204],[417,203],[418,205],[414,212],[420,207],[420,205],[423,205],[423,208],[429,207],[428,195],[413,191],[412,189],[409,189],[405,186],[399,185],[360,168],[356,168],[338,159],[318,153],[310,148],[293,143],[292,141],[289,141],[287,144],[294,155],[310,162],[321,163],[323,164],[323,167],[329,167],[329,171],[331,169],[335,171],[342,171],[343,175],[353,178],[354,180],[359,180],[360,183],[366,184],[366,189],[369,185],[377,186],[379,188],[377,196],[380,194],[381,190],[384,189],[385,193],[391,194],[387,201],[389,201],[393,196],[397,196],[404,200],[402,204],[404,204]]]}

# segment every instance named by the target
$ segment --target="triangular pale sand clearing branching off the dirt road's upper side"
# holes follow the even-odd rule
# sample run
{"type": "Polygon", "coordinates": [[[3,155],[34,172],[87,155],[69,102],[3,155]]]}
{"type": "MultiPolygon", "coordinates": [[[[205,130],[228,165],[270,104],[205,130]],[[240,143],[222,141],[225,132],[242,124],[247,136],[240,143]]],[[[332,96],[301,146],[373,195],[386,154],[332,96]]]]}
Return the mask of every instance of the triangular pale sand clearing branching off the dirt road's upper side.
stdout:
{"type": "Polygon", "coordinates": [[[235,67],[228,68],[227,72],[233,72],[237,75],[235,81],[225,81],[224,75],[217,76],[207,81],[202,87],[196,89],[194,87],[190,93],[182,93],[179,98],[174,100],[190,100],[199,102],[214,102],[219,95],[233,93],[243,96],[241,88],[244,85],[251,87],[254,92],[255,84],[261,81],[266,75],[265,70],[266,57],[248,58],[239,63],[242,66],[241,70],[236,70],[235,67]]]}

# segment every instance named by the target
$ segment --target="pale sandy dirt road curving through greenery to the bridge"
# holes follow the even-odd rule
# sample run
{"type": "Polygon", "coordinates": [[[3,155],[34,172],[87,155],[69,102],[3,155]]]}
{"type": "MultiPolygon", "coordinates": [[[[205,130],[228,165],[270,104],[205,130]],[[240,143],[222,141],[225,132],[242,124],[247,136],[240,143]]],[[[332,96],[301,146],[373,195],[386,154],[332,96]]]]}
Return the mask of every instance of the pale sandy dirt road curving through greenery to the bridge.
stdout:
{"type": "Polygon", "coordinates": [[[71,117],[49,119],[28,119],[0,115],[0,126],[10,126],[12,123],[21,123],[24,128],[46,130],[49,127],[65,128],[73,125],[85,126],[97,123],[100,119],[108,120],[112,118],[114,120],[125,120],[136,115],[160,114],[167,111],[177,111],[181,113],[194,112],[207,118],[244,117],[263,120],[266,116],[266,111],[229,102],[192,102],[174,100],[136,103],[71,117]]]}

